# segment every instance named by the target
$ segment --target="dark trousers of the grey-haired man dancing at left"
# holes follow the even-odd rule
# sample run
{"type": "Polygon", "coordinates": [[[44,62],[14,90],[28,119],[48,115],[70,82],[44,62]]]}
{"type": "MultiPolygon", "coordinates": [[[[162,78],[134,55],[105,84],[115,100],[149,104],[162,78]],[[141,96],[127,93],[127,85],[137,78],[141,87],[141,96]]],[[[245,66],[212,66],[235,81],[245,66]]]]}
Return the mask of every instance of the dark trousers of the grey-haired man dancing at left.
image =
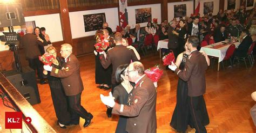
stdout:
{"type": "Polygon", "coordinates": [[[85,120],[92,119],[92,114],[88,113],[86,109],[81,105],[81,94],[68,96],[69,108],[71,110],[71,121],[72,123],[78,124],[79,117],[85,120]]]}

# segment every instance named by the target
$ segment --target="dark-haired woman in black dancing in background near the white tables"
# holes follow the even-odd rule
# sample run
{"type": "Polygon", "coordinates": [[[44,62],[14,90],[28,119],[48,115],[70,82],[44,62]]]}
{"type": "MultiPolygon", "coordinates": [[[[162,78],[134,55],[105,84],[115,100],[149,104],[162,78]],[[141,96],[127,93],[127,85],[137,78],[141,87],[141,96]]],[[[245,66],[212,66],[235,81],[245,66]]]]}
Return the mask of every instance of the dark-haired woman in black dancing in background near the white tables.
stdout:
{"type": "Polygon", "coordinates": [[[177,32],[173,31],[173,34],[176,34],[179,37],[178,38],[178,43],[179,43],[178,49],[179,49],[179,53],[182,53],[185,50],[184,46],[185,46],[186,39],[188,37],[185,20],[180,20],[179,26],[180,26],[180,29],[177,32]]]}

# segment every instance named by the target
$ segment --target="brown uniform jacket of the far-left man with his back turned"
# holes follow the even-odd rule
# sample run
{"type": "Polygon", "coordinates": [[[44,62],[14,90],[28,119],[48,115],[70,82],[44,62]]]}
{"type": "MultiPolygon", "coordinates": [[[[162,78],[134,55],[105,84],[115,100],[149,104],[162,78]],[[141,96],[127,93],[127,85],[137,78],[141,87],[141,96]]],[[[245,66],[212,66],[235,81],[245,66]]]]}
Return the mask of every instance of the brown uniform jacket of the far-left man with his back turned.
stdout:
{"type": "Polygon", "coordinates": [[[38,46],[44,46],[44,44],[37,40],[37,36],[31,33],[26,33],[21,38],[21,46],[25,49],[26,59],[38,58],[41,56],[38,46]]]}

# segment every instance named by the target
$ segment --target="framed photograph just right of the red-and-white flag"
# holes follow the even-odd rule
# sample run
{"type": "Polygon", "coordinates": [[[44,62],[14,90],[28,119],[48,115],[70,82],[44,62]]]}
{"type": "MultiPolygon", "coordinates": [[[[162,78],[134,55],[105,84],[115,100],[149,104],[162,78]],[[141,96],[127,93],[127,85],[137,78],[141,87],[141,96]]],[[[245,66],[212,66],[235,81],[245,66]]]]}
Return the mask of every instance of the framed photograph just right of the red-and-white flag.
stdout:
{"type": "Polygon", "coordinates": [[[135,9],[136,24],[152,21],[151,8],[135,9]]]}

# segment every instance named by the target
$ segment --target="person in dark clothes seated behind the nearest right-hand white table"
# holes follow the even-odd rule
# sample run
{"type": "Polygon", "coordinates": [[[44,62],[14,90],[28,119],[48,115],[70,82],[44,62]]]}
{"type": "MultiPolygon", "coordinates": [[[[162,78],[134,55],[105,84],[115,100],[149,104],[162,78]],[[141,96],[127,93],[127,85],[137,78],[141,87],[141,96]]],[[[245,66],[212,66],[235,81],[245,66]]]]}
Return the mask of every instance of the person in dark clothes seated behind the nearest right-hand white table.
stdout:
{"type": "Polygon", "coordinates": [[[225,25],[220,25],[218,28],[215,28],[213,36],[215,42],[225,41],[227,39],[227,33],[225,30],[225,25]]]}

